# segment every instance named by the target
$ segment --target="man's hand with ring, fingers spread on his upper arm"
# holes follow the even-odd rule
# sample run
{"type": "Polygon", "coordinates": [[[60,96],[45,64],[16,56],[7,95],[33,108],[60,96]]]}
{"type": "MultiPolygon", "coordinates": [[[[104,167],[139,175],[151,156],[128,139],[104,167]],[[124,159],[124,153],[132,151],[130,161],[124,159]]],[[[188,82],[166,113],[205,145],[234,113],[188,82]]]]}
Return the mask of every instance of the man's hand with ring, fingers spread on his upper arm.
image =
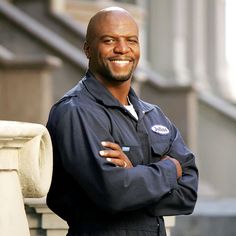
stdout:
{"type": "Polygon", "coordinates": [[[113,142],[103,141],[102,146],[109,148],[106,150],[101,150],[99,154],[106,158],[107,161],[112,162],[116,166],[123,167],[126,169],[132,168],[133,165],[129,158],[122,151],[121,147],[113,142]]]}

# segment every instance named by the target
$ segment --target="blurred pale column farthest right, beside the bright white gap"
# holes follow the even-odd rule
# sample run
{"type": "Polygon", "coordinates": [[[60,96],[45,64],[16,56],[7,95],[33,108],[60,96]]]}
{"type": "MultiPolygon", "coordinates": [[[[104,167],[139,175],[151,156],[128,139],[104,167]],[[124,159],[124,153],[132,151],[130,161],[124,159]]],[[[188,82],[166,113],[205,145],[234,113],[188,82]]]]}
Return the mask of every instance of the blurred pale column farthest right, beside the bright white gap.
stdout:
{"type": "Polygon", "coordinates": [[[207,72],[214,93],[230,99],[225,55],[225,0],[206,1],[207,72]]]}

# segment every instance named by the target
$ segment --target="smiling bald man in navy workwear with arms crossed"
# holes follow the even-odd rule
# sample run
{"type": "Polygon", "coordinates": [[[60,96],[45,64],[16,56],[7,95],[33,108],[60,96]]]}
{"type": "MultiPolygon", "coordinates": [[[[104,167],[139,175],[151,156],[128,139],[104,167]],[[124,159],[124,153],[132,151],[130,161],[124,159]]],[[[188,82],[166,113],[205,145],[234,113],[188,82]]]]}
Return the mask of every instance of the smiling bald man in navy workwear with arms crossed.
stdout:
{"type": "Polygon", "coordinates": [[[194,155],[159,107],[131,88],[140,48],[127,11],[95,14],[84,51],[85,77],[47,124],[54,150],[47,204],[67,221],[68,236],[163,236],[163,216],[194,209],[194,155]]]}

